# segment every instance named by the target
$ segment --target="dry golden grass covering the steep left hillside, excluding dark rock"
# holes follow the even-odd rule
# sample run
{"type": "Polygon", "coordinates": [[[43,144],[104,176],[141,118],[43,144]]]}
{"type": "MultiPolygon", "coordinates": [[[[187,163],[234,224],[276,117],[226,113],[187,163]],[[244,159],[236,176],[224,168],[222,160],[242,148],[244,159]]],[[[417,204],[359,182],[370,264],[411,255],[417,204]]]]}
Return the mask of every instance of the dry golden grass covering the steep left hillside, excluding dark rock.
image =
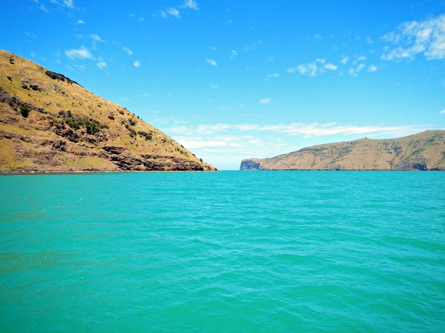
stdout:
{"type": "MultiPolygon", "coordinates": [[[[94,119],[98,123],[108,126],[108,129],[104,130],[106,132],[105,135],[108,135],[108,139],[97,144],[91,144],[88,140],[84,140],[78,144],[79,147],[86,146],[98,149],[103,146],[125,147],[136,157],[147,154],[156,155],[158,159],[182,159],[202,164],[209,170],[214,169],[211,165],[197,160],[193,154],[175,142],[175,140],[139,119],[129,110],[92,94],[92,92],[76,83],[69,83],[67,80],[54,80],[45,74],[46,71],[47,69],[30,60],[20,58],[7,51],[0,51],[0,86],[9,94],[17,96],[23,103],[33,106],[29,117],[25,119],[20,115],[17,108],[14,110],[10,105],[0,103],[0,134],[3,133],[0,137],[4,137],[5,133],[13,133],[13,136],[17,136],[15,144],[6,144],[4,142],[5,139],[2,139],[0,169],[15,169],[14,166],[16,164],[13,163],[14,161],[10,161],[10,158],[14,156],[13,149],[17,149],[17,147],[40,149],[27,144],[25,142],[26,139],[24,141],[24,137],[31,137],[32,135],[37,138],[36,141],[38,142],[42,142],[44,137],[57,139],[56,134],[48,133],[44,124],[49,119],[52,119],[51,117],[58,117],[60,112],[71,112],[79,119],[94,119]],[[28,89],[24,89],[24,85],[28,89]],[[39,89],[29,89],[31,85],[37,85],[39,89]],[[41,108],[42,112],[39,112],[38,108],[41,108]],[[110,119],[112,117],[114,119],[110,119]],[[131,137],[129,129],[125,127],[126,125],[136,133],[151,133],[152,139],[146,140],[142,135],[131,137]],[[6,160],[10,162],[1,162],[6,160]]],[[[80,132],[81,130],[82,128],[80,132]]],[[[10,135],[8,134],[8,136],[10,135]]],[[[67,159],[70,162],[60,164],[58,167],[67,169],[82,169],[86,166],[93,169],[115,167],[114,164],[109,164],[109,161],[105,163],[97,158],[90,159],[89,162],[85,162],[85,160],[84,157],[79,158],[79,156],[72,155],[67,159]]],[[[19,165],[22,164],[26,164],[26,166],[31,164],[37,168],[48,167],[47,165],[35,166],[30,161],[21,161],[19,163],[19,165]]]]}

